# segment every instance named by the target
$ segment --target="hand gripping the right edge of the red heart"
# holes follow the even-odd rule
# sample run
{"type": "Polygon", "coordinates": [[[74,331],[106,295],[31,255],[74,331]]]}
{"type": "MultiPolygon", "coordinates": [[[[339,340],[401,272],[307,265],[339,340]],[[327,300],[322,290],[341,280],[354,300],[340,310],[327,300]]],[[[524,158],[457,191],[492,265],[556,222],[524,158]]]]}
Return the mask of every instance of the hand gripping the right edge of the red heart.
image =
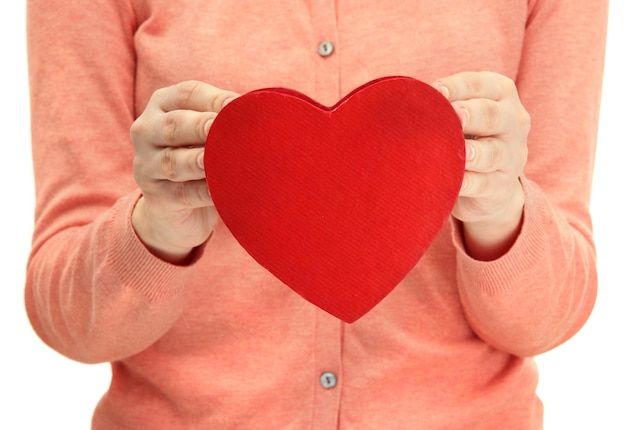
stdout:
{"type": "Polygon", "coordinates": [[[459,73],[433,86],[451,102],[466,136],[465,175],[452,214],[463,223],[471,256],[498,258],[521,228],[519,177],[526,166],[530,116],[515,83],[497,73],[459,73]]]}

